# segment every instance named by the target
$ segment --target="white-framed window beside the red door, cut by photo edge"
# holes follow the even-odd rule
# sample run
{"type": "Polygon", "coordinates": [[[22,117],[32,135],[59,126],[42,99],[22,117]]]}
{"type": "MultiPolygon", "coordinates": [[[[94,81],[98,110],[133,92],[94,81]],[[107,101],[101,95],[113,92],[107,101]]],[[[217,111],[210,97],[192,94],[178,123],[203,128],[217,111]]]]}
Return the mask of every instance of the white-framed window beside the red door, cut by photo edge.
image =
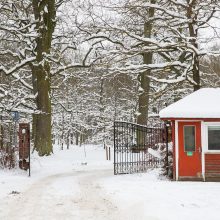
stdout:
{"type": "Polygon", "coordinates": [[[208,127],[208,149],[220,150],[220,126],[208,127]]]}

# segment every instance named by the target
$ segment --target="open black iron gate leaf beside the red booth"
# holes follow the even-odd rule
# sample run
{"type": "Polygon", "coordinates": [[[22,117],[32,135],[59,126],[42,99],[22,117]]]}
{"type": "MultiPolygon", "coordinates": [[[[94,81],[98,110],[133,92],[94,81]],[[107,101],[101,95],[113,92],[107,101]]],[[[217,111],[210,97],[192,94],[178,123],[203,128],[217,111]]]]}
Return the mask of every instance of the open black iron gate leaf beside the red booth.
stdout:
{"type": "Polygon", "coordinates": [[[159,149],[167,147],[166,130],[114,122],[114,174],[145,172],[159,167],[159,149]],[[150,150],[152,149],[152,150],[150,150]]]}

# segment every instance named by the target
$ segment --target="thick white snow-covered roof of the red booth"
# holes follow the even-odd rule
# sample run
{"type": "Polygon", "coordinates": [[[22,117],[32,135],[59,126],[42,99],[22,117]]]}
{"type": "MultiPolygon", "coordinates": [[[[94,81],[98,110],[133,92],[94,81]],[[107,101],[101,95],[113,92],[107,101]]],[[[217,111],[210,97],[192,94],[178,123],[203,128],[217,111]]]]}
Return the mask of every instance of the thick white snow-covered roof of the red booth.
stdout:
{"type": "Polygon", "coordinates": [[[169,105],[160,118],[220,118],[220,88],[204,88],[169,105]]]}

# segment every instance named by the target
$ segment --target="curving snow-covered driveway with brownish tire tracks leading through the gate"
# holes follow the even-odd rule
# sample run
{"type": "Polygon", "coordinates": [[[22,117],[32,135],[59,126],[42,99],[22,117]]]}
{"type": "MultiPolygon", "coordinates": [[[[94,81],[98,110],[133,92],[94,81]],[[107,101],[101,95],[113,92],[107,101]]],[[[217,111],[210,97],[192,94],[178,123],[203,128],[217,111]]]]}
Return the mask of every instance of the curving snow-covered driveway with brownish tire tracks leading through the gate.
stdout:
{"type": "Polygon", "coordinates": [[[112,170],[62,173],[43,178],[26,191],[8,197],[7,220],[123,219],[98,179],[112,170]],[[77,179],[77,182],[76,182],[77,179]],[[75,189],[74,189],[75,187],[75,189]],[[116,218],[115,214],[119,218],[116,218]]]}

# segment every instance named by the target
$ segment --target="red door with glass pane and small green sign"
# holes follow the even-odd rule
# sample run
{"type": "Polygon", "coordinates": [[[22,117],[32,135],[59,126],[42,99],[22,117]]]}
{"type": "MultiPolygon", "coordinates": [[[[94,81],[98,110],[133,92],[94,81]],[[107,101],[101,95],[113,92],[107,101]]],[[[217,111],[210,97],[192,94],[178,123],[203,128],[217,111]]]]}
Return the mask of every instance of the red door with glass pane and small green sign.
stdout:
{"type": "Polygon", "coordinates": [[[201,178],[201,122],[179,122],[179,177],[201,178]]]}

